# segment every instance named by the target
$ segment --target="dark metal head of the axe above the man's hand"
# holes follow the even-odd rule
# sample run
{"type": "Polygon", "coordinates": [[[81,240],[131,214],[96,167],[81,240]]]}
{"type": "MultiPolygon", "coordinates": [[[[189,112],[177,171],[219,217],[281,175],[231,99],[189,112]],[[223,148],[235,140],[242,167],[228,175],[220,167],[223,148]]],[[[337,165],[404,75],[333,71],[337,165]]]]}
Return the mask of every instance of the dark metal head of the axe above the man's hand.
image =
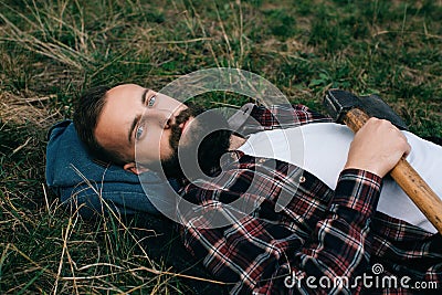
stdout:
{"type": "Polygon", "coordinates": [[[359,108],[370,117],[388,119],[399,129],[408,130],[406,123],[378,95],[356,96],[341,89],[329,89],[324,97],[324,106],[337,123],[341,123],[348,110],[359,108]]]}

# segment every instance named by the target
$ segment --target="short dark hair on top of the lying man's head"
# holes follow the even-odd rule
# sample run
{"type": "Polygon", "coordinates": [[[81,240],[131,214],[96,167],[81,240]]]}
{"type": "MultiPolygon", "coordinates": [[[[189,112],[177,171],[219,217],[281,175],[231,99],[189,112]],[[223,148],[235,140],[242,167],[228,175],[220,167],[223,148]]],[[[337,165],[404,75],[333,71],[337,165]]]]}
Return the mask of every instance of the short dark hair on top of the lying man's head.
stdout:
{"type": "Polygon", "coordinates": [[[109,86],[102,85],[82,94],[74,104],[74,126],[80,139],[94,158],[104,162],[123,165],[123,158],[118,152],[106,150],[95,138],[95,129],[109,89],[109,86]]]}

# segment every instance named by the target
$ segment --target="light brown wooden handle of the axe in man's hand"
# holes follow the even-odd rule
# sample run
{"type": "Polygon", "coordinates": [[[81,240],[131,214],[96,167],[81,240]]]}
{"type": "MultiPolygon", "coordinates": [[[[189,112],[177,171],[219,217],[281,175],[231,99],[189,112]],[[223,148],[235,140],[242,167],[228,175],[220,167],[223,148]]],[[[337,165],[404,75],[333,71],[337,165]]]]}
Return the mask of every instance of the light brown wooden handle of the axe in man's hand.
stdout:
{"type": "MultiPolygon", "coordinates": [[[[366,113],[354,108],[346,114],[344,123],[356,133],[368,119],[366,113]]],[[[390,175],[442,234],[442,200],[438,194],[403,157],[390,171],[390,175]]]]}

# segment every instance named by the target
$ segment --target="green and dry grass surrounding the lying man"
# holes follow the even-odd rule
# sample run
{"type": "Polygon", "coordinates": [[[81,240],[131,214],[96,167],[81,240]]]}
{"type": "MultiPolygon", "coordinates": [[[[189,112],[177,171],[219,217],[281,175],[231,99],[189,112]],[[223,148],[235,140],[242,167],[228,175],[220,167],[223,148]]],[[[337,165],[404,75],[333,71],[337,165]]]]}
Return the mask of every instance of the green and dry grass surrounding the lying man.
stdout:
{"type": "Polygon", "coordinates": [[[319,110],[329,87],[377,93],[412,131],[442,136],[441,19],[439,0],[2,1],[0,293],[194,292],[196,280],[173,275],[185,270],[167,260],[172,244],[150,252],[149,224],[83,221],[45,187],[45,131],[83,89],[159,89],[192,71],[240,67],[319,110]]]}

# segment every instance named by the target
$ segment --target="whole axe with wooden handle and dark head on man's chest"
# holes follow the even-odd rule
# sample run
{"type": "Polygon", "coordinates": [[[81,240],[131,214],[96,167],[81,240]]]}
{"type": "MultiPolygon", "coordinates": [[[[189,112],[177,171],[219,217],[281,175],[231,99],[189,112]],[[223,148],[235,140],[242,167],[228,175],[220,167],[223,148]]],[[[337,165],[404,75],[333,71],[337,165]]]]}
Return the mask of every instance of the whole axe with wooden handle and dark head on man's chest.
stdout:
{"type": "MultiPolygon", "coordinates": [[[[324,106],[338,123],[344,122],[352,131],[358,131],[370,116],[388,119],[400,129],[407,129],[399,116],[379,97],[358,97],[341,89],[329,89],[324,106]]],[[[402,157],[390,176],[442,234],[442,200],[402,157]]]]}

